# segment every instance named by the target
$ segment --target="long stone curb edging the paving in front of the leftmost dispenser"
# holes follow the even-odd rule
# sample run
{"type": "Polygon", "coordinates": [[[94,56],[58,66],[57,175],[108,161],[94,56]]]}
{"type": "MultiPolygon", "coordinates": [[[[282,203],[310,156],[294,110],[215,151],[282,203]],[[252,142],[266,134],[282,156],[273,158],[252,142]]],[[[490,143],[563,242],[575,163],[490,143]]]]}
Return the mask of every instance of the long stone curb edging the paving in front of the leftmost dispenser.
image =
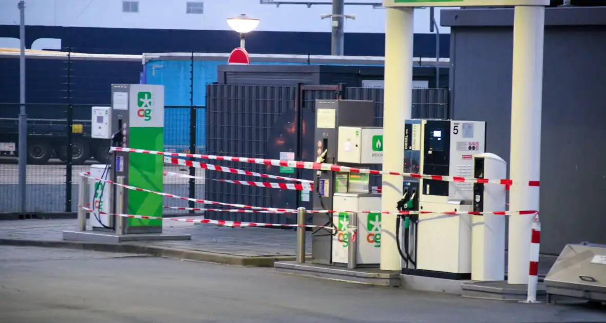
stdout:
{"type": "Polygon", "coordinates": [[[82,241],[53,241],[53,240],[22,240],[0,239],[0,245],[65,248],[79,250],[93,250],[102,252],[139,253],[156,257],[178,258],[205,263],[225,264],[242,267],[273,267],[276,261],[295,261],[296,256],[236,256],[225,253],[175,249],[168,247],[141,246],[138,244],[109,244],[88,243],[82,241]]]}

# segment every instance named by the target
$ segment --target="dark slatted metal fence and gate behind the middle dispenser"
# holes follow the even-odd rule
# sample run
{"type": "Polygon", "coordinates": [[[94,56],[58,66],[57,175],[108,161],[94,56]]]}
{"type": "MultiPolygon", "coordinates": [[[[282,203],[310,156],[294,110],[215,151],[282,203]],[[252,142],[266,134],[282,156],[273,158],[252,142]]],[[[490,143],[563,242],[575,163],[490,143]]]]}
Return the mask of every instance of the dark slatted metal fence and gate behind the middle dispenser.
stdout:
{"type": "MultiPolygon", "coordinates": [[[[249,158],[315,160],[314,126],[316,99],[352,99],[375,102],[375,125],[383,124],[382,88],[346,88],[344,85],[224,85],[208,84],[207,153],[249,158]]],[[[414,118],[448,118],[448,90],[414,89],[414,118]]],[[[313,171],[213,160],[213,164],[270,175],[313,179],[313,171]]],[[[374,169],[380,169],[380,165],[374,169]]],[[[224,172],[207,172],[207,199],[224,203],[295,209],[311,208],[309,194],[266,189],[219,180],[255,180],[224,172]]],[[[380,185],[380,177],[372,184],[380,185]]],[[[262,181],[262,180],[259,180],[262,181]]],[[[267,180],[271,181],[271,180],[267,180]]],[[[264,223],[294,223],[293,215],[218,214],[207,218],[264,223]]]]}

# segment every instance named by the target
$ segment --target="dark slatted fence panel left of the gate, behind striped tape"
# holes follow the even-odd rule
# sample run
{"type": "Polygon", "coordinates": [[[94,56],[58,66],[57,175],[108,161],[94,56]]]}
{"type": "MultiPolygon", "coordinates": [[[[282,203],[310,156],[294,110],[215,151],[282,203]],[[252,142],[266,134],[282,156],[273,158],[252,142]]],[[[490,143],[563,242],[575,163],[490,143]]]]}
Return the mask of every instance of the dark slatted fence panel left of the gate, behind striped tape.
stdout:
{"type": "MultiPolygon", "coordinates": [[[[295,86],[221,85],[206,88],[207,154],[265,158],[267,142],[276,121],[295,108],[295,86]]],[[[212,165],[267,174],[270,166],[202,160],[212,165]]],[[[282,207],[284,201],[272,200],[267,188],[232,184],[221,180],[276,181],[227,172],[208,171],[206,197],[211,201],[251,206],[282,207]]],[[[283,222],[279,214],[236,214],[207,212],[207,218],[232,221],[283,222]]]]}

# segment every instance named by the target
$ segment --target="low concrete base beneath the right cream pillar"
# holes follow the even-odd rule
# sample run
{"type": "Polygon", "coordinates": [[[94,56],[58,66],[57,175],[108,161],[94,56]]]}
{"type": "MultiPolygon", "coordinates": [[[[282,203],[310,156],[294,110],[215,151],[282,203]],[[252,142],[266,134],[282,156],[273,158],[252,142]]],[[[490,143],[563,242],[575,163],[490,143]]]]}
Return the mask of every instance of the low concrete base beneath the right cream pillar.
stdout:
{"type": "MultiPolygon", "coordinates": [[[[500,299],[503,301],[525,301],[528,295],[528,285],[510,285],[507,281],[473,281],[461,286],[462,296],[471,298],[500,299]]],[[[545,301],[545,285],[539,282],[536,298],[545,301]]]]}

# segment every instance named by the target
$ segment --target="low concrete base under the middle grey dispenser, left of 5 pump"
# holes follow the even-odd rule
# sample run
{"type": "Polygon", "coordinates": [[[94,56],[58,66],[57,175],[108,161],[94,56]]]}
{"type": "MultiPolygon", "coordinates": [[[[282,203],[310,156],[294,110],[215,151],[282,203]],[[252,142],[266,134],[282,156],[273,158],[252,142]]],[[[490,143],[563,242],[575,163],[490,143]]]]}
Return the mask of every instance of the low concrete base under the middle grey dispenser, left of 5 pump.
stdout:
{"type": "Polygon", "coordinates": [[[335,279],[376,286],[400,286],[400,273],[378,268],[347,269],[321,264],[299,264],[295,261],[277,261],[273,264],[278,272],[316,278],[335,279]]]}

